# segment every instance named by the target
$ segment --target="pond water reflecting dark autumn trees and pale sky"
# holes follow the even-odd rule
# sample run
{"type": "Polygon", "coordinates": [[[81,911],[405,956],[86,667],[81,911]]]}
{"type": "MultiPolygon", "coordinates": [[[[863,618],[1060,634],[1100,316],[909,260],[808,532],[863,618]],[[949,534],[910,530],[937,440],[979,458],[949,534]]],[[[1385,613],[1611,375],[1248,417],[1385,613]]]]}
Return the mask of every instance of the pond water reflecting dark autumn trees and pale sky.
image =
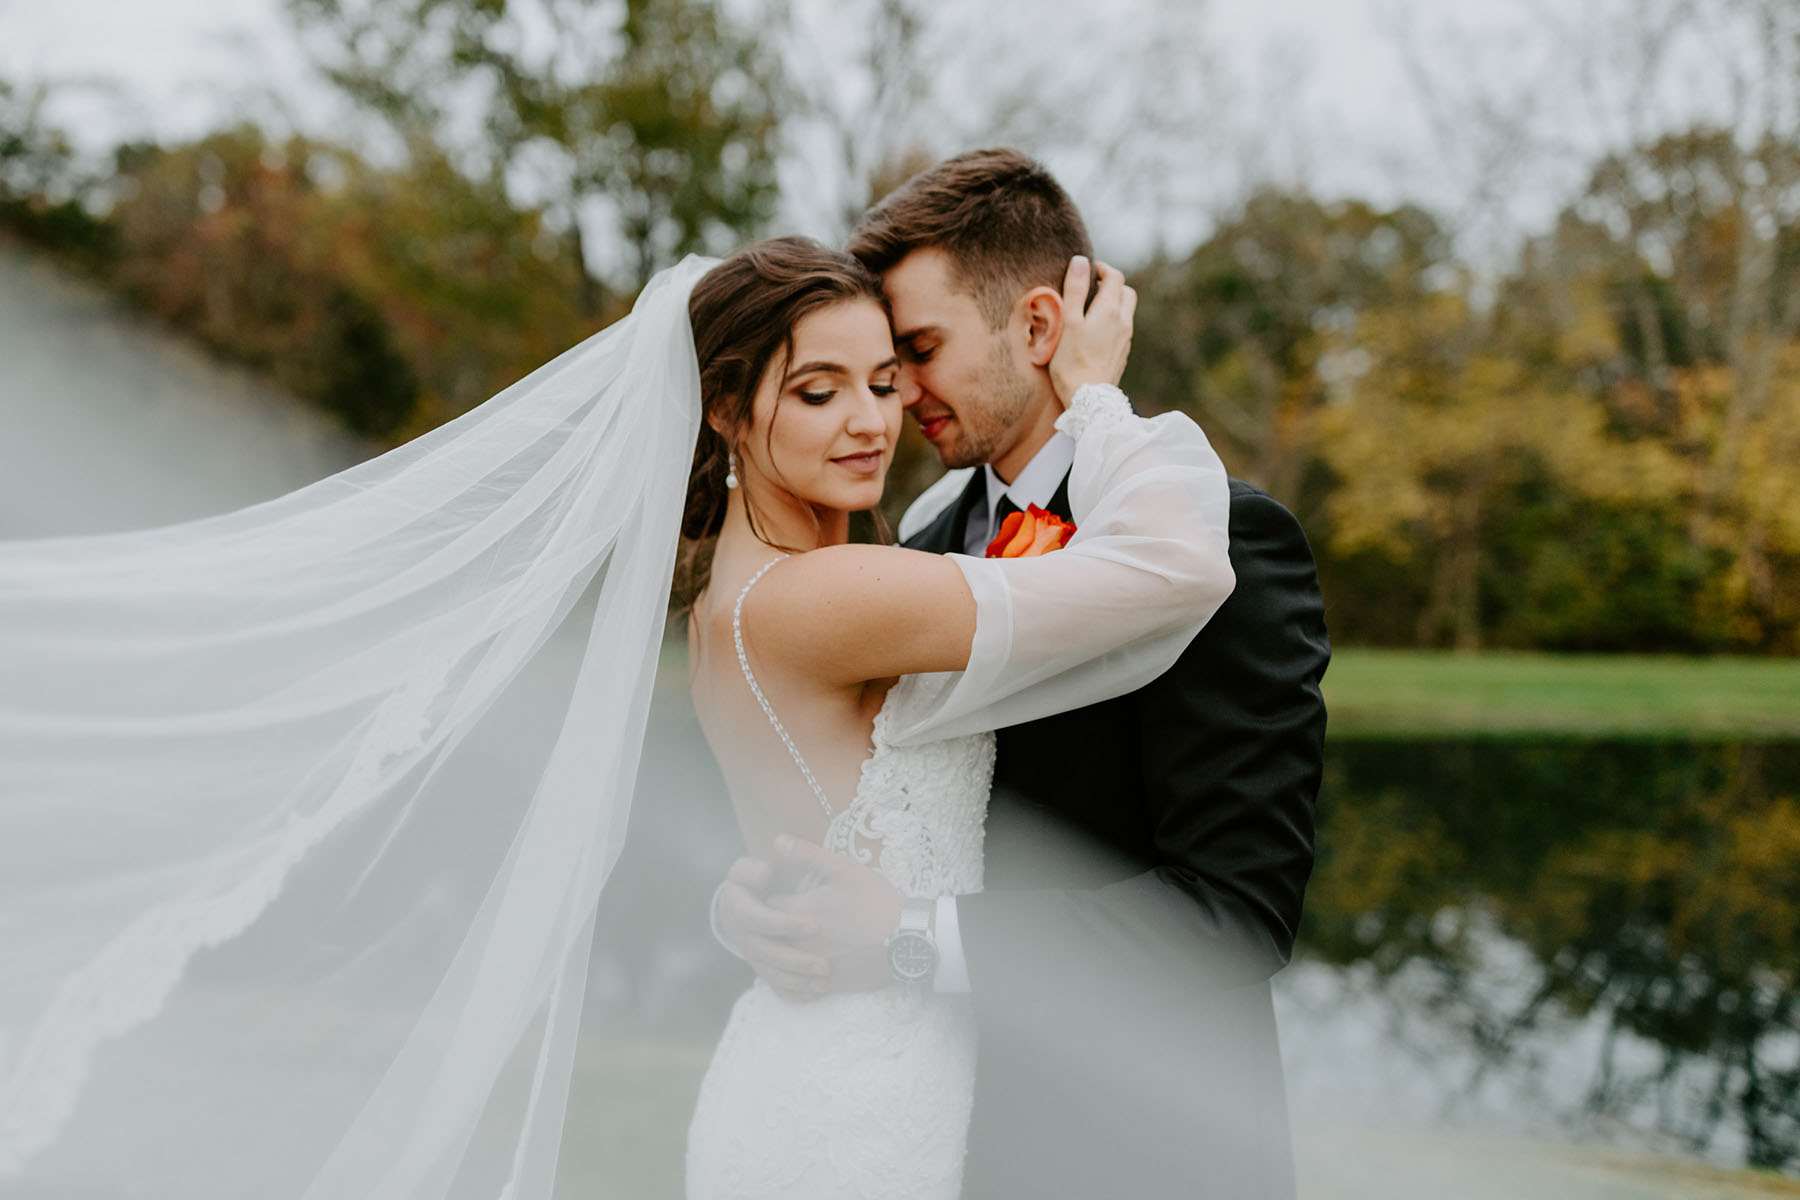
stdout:
{"type": "Polygon", "coordinates": [[[1330,748],[1301,930],[1321,966],[1292,986],[1361,981],[1415,1049],[1449,1036],[1463,1096],[1535,1072],[1589,1119],[1796,1169],[1796,946],[1800,743],[1330,748]]]}

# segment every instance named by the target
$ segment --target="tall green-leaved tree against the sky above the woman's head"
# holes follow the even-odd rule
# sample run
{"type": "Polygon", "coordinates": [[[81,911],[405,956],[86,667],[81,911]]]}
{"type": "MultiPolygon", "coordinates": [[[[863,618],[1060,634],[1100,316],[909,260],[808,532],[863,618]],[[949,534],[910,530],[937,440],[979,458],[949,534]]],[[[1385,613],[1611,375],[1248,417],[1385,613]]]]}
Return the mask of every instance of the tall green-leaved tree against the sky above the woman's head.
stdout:
{"type": "MultiPolygon", "coordinates": [[[[414,160],[504,185],[581,281],[634,295],[774,203],[779,67],[707,0],[288,0],[317,61],[414,160]],[[472,117],[473,113],[473,117],[472,117]],[[603,230],[596,237],[590,230],[603,230]]],[[[583,286],[590,315],[605,308],[583,286]]]]}

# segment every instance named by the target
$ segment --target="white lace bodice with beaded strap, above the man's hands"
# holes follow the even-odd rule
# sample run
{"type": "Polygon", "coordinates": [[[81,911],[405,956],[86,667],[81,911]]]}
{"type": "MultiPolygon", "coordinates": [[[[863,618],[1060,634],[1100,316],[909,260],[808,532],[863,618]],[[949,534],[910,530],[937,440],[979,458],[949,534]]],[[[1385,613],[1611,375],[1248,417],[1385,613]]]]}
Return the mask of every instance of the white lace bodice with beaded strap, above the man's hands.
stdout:
{"type": "Polygon", "coordinates": [[[994,781],[994,736],[968,734],[918,745],[889,739],[893,712],[922,676],[902,676],[882,700],[850,802],[833,808],[751,669],[743,648],[743,599],[787,554],[772,558],[738,592],[731,640],[751,694],[830,819],[824,849],[880,871],[905,896],[981,891],[981,833],[994,781]]]}

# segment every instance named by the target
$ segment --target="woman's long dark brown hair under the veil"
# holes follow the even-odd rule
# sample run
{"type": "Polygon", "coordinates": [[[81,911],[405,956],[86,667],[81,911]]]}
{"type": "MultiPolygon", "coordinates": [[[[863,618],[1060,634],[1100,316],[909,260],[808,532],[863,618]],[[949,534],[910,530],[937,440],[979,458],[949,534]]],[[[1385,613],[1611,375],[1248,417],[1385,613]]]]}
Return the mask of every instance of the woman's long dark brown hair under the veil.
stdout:
{"type": "Polygon", "coordinates": [[[751,428],[756,387],[769,363],[794,353],[794,327],[805,317],[864,299],[886,306],[875,275],[851,255],[810,237],[770,237],[743,246],[693,286],[688,320],[700,363],[702,421],[680,522],[679,606],[706,590],[711,540],[725,522],[731,452],[751,428]]]}

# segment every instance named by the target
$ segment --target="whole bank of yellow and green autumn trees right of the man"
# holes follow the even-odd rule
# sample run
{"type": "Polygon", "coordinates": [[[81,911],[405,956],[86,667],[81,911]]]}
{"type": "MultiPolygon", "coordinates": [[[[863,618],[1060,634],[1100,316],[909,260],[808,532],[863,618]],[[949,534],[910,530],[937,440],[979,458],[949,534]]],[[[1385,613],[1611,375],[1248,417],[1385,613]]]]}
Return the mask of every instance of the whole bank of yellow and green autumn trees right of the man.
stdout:
{"type": "Polygon", "coordinates": [[[1796,153],[1602,162],[1499,279],[1258,194],[1138,273],[1127,390],[1300,515],[1337,640],[1800,653],[1796,153]]]}

